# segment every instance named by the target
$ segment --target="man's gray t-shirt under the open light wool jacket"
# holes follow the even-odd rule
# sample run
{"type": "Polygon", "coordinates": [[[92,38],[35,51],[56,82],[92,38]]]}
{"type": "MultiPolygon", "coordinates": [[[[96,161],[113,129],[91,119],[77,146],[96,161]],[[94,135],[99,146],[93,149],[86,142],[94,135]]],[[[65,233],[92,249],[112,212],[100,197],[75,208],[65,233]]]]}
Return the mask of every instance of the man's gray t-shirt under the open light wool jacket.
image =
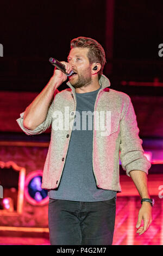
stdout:
{"type": "MultiPolygon", "coordinates": [[[[101,87],[99,89],[101,89],[101,87]]],[[[76,93],[77,112],[74,119],[65,166],[59,187],[55,190],[48,191],[48,196],[50,198],[96,202],[109,200],[116,196],[116,191],[98,188],[93,174],[92,113],[94,111],[95,100],[99,89],[89,93],[76,93]],[[89,111],[87,116],[84,115],[84,111],[85,113],[89,111]]]]}

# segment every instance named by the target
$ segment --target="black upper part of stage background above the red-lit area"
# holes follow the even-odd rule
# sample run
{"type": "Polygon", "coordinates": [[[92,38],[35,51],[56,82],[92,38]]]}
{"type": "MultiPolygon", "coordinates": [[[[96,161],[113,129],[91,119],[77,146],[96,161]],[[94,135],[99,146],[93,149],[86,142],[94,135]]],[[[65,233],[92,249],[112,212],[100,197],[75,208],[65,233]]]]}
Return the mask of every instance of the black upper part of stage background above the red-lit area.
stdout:
{"type": "Polygon", "coordinates": [[[112,87],[122,89],[122,80],[162,81],[162,8],[161,0],[2,2],[1,90],[40,92],[53,72],[48,58],[66,60],[78,36],[102,44],[112,87]]]}

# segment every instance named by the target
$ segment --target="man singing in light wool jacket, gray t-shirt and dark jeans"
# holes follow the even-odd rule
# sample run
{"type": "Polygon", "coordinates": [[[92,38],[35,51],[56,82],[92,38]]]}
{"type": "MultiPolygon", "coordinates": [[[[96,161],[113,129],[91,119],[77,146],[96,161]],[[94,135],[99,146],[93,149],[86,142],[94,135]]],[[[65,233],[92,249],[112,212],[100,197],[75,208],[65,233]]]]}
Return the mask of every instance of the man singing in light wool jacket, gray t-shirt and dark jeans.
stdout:
{"type": "Polygon", "coordinates": [[[96,40],[73,39],[67,62],[61,62],[68,74],[73,70],[69,88],[59,92],[67,76],[55,68],[47,86],[17,119],[27,135],[52,125],[42,177],[49,196],[51,245],[112,244],[120,159],[142,199],[137,233],[143,234],[152,222],[147,186],[151,163],[143,154],[131,99],[108,88],[105,62],[96,40]]]}

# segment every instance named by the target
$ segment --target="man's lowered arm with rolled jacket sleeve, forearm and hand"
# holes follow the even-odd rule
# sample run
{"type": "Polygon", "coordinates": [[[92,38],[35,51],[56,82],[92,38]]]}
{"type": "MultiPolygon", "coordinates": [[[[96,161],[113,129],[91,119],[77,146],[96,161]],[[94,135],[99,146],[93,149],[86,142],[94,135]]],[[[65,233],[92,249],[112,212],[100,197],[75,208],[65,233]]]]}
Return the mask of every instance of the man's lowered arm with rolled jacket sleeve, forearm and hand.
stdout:
{"type": "MultiPolygon", "coordinates": [[[[126,95],[122,109],[120,134],[120,159],[122,168],[126,170],[126,174],[133,179],[141,198],[150,198],[147,186],[147,174],[148,169],[151,167],[151,162],[149,162],[144,155],[134,107],[128,95],[126,95]]],[[[136,224],[136,228],[139,228],[141,221],[143,220],[144,222],[143,227],[137,230],[137,233],[140,235],[143,234],[151,224],[151,211],[151,204],[143,202],[136,224]]]]}

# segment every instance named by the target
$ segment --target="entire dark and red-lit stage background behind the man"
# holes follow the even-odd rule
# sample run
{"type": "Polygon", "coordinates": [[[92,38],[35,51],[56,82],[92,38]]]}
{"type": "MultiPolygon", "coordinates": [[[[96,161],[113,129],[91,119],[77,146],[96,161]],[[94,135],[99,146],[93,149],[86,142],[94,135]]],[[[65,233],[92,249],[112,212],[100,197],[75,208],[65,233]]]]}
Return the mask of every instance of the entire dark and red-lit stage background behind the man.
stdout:
{"type": "MultiPolygon", "coordinates": [[[[17,210],[0,209],[0,244],[49,244],[47,202],[33,204],[26,188],[30,176],[42,172],[51,128],[27,136],[16,119],[53,75],[49,57],[66,61],[70,41],[86,36],[104,47],[110,88],[131,97],[152,163],[149,192],[156,206],[153,224],[141,237],[135,233],[140,197],[120,163],[114,245],[163,245],[163,1],[3,1],[0,8],[0,173],[12,167],[22,186],[13,176],[17,210]]],[[[65,88],[66,82],[58,89],[65,88]]]]}

